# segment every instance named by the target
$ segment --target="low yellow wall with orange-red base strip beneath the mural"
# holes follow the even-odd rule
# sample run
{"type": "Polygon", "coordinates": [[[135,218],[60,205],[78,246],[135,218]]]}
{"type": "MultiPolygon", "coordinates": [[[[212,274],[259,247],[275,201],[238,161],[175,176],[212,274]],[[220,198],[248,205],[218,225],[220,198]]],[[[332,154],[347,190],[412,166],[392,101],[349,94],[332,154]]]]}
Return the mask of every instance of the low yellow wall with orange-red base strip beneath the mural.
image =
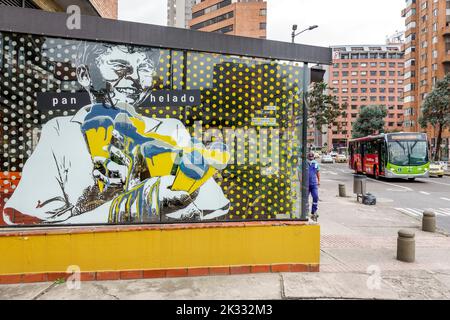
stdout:
{"type": "Polygon", "coordinates": [[[0,233],[0,284],[318,271],[320,227],[302,222],[0,233]]]}

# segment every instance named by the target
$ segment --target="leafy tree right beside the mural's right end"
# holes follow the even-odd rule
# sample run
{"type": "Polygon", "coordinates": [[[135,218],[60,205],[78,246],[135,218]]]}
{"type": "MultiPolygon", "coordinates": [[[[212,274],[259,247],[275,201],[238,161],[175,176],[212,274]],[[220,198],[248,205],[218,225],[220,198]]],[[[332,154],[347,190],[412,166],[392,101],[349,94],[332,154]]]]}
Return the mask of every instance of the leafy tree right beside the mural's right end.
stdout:
{"type": "Polygon", "coordinates": [[[345,105],[339,105],[335,96],[328,94],[330,90],[325,82],[315,82],[308,93],[309,118],[320,132],[324,126],[331,129],[332,123],[342,115],[345,108],[345,105]]]}

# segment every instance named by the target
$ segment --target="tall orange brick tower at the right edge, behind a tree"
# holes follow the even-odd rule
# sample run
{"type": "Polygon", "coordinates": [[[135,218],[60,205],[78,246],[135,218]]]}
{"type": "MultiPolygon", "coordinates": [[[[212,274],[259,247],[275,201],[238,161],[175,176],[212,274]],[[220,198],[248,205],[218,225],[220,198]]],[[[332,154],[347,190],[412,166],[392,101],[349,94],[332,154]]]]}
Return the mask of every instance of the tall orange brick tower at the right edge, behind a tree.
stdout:
{"type": "MultiPolygon", "coordinates": [[[[421,106],[437,80],[450,72],[450,1],[407,0],[405,18],[405,131],[423,131],[418,123],[421,106]]],[[[435,147],[437,128],[428,128],[435,147]]],[[[450,132],[444,132],[448,158],[450,132]]]]}

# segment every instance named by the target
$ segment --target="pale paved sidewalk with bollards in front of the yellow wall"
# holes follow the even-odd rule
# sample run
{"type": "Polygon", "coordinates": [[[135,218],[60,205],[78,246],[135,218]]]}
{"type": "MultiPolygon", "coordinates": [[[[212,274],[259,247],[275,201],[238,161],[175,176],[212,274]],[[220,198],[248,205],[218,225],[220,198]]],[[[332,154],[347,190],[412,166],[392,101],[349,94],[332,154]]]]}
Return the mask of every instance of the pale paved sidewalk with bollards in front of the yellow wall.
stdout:
{"type": "MultiPolygon", "coordinates": [[[[347,186],[350,190],[350,186],[347,186]]],[[[380,203],[337,198],[324,182],[320,273],[0,285],[0,299],[450,299],[450,238],[380,203]],[[399,229],[416,233],[416,262],[396,260],[399,229]]],[[[301,244],[299,244],[301,245],[301,244]]]]}

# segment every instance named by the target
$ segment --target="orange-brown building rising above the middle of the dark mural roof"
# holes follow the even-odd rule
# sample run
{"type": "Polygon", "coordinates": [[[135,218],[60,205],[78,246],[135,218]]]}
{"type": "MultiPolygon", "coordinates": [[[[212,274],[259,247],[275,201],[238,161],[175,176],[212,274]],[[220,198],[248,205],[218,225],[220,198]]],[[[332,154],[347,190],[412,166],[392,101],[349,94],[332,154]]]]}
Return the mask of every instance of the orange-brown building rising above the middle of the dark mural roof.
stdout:
{"type": "Polygon", "coordinates": [[[266,24],[265,0],[196,0],[189,28],[265,39],[266,24]]]}

